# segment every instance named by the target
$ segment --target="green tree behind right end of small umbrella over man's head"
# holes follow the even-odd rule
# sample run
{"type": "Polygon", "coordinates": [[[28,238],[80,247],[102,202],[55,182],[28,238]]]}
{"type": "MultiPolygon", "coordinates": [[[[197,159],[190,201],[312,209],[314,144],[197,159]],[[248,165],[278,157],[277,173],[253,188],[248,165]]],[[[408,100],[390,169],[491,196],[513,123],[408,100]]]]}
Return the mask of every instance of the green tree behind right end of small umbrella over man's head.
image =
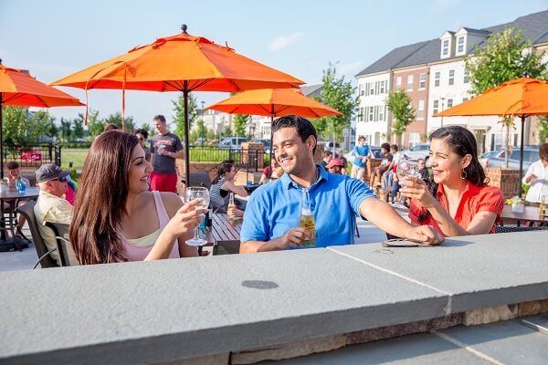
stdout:
{"type": "Polygon", "coordinates": [[[350,120],[358,105],[358,97],[350,81],[345,81],[344,76],[337,77],[337,69],[332,63],[323,70],[321,93],[315,99],[339,110],[342,115],[312,120],[312,124],[320,130],[323,137],[326,137],[326,134],[332,134],[333,142],[342,141],[342,130],[350,127],[350,120]]]}

